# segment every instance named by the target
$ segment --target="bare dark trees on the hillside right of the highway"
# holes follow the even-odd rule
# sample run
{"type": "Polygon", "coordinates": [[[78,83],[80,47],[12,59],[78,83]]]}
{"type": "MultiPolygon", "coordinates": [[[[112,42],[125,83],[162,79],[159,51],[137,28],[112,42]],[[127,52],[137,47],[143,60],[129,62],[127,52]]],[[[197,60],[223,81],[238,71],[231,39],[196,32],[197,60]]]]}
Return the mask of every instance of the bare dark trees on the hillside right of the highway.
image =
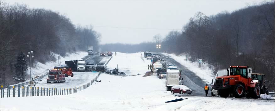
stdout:
{"type": "Polygon", "coordinates": [[[188,54],[192,62],[202,59],[214,73],[229,66],[250,66],[252,73],[264,73],[273,89],[274,1],[231,13],[195,13],[182,32],[168,33],[162,48],[168,53],[188,54]]]}

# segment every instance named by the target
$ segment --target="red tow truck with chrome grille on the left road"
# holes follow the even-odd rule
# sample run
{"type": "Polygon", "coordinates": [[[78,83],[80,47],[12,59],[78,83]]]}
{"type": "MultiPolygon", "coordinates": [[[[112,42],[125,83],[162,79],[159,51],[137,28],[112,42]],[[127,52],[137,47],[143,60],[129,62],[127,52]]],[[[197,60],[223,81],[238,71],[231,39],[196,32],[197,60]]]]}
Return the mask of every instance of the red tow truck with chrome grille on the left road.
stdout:
{"type": "Polygon", "coordinates": [[[61,69],[50,69],[47,78],[47,83],[63,83],[65,82],[65,74],[61,69]]]}

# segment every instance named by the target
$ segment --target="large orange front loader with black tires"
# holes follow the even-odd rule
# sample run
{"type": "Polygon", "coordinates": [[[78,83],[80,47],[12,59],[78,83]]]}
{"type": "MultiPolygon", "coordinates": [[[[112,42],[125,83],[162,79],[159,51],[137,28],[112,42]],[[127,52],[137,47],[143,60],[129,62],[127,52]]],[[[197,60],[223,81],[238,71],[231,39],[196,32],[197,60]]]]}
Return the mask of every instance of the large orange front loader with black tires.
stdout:
{"type": "Polygon", "coordinates": [[[217,77],[213,89],[218,90],[221,97],[233,94],[235,98],[260,98],[259,81],[251,77],[252,68],[247,66],[230,66],[227,76],[217,77]]]}

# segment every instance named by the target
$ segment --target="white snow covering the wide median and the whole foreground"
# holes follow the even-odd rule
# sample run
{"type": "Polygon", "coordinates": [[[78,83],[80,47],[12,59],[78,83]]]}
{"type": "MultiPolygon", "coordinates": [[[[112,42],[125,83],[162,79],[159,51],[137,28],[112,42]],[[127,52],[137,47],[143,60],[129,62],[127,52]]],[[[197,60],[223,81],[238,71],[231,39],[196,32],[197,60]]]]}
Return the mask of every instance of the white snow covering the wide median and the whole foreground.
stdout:
{"type": "Polygon", "coordinates": [[[140,53],[128,54],[127,57],[125,53],[117,53],[108,67],[115,68],[118,64],[119,71],[142,75],[121,77],[102,73],[97,79],[101,82],[95,82],[79,93],[1,98],[0,110],[274,110],[274,100],[172,95],[166,91],[165,79],[142,77],[149,71],[150,60],[143,62],[140,56],[140,53]],[[165,103],[176,98],[188,99],[165,103]],[[64,102],[67,105],[57,105],[64,102]]]}

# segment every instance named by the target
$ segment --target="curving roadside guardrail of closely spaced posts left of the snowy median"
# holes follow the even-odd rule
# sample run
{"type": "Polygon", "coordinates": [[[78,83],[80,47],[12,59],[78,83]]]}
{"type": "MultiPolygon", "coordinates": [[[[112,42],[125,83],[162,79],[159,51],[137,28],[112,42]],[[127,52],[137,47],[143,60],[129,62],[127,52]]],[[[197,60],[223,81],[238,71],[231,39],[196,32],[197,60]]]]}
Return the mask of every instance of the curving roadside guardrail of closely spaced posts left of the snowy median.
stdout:
{"type": "Polygon", "coordinates": [[[29,97],[29,96],[55,96],[55,95],[69,95],[69,94],[73,94],[73,93],[77,93],[80,92],[88,87],[90,87],[92,85],[92,83],[94,83],[97,78],[100,76],[101,72],[98,73],[98,75],[96,76],[96,78],[94,78],[93,80],[91,80],[91,82],[86,83],[82,86],[79,87],[74,87],[74,88],[60,88],[60,93],[59,93],[59,89],[58,88],[39,88],[39,87],[24,87],[24,86],[18,86],[17,90],[15,86],[12,86],[10,88],[10,86],[8,86],[7,89],[3,88],[3,86],[1,86],[1,90],[0,90],[0,94],[1,94],[1,98],[4,98],[5,96],[7,98],[10,98],[10,94],[12,91],[12,97],[29,97]],[[10,90],[12,89],[12,90],[10,90]],[[5,90],[7,92],[5,92],[5,90]],[[52,91],[51,91],[52,90],[52,91]],[[6,95],[4,95],[6,93],[6,95]]]}

